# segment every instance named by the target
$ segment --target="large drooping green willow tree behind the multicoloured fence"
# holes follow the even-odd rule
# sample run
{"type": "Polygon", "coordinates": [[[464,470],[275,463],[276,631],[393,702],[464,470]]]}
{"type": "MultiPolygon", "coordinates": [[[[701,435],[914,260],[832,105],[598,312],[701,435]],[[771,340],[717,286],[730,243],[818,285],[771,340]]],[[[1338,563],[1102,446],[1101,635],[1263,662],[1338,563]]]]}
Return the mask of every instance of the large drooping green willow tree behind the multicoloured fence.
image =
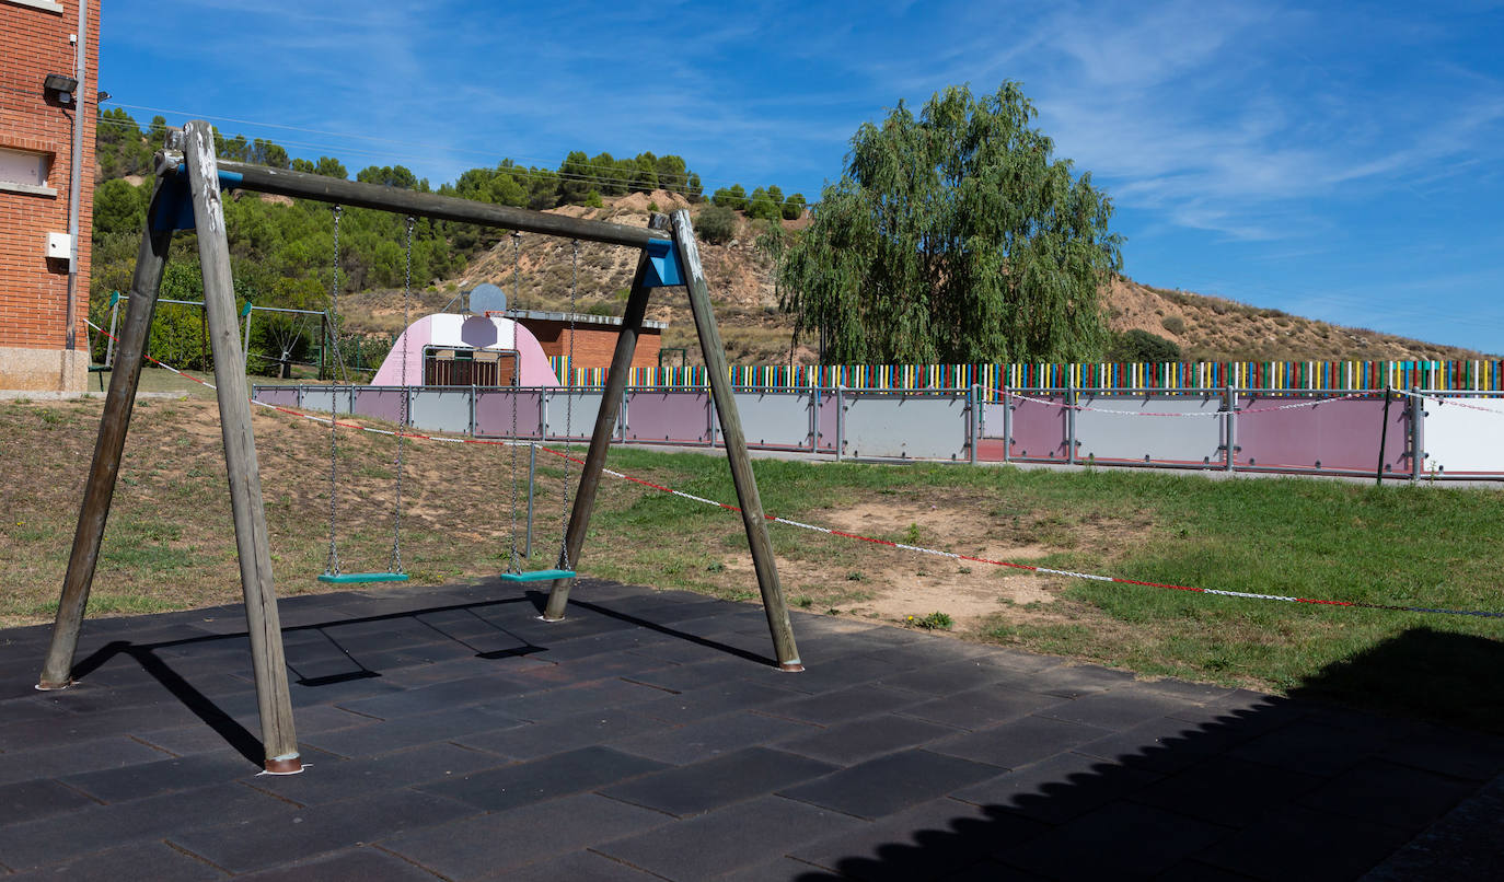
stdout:
{"type": "Polygon", "coordinates": [[[779,261],[779,305],[826,362],[1095,359],[1122,266],[1111,200],[1054,159],[1017,83],[935,93],[851,138],[779,261]]]}

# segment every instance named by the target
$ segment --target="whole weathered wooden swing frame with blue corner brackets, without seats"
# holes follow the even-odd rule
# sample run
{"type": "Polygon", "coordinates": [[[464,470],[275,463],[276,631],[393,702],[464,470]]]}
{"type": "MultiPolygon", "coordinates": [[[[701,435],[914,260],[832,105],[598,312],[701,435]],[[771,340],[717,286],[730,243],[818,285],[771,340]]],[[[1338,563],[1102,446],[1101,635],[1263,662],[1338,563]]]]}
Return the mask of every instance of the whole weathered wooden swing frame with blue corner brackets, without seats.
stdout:
{"type": "MultiPolygon", "coordinates": [[[[731,394],[725,347],[716,328],[710,288],[699,263],[689,212],[674,212],[671,224],[669,218],[654,215],[647,228],[626,227],[283,168],[220,162],[214,152],[214,126],[203,120],[194,120],[183,129],[168,129],[165,150],[156,155],[156,183],[147,207],[135,273],[131,279],[131,301],[125,328],[120,332],[116,370],[110,376],[110,391],[99,418],[99,434],[89,467],[89,479],[84,485],[78,527],[68,559],[68,574],[63,577],[53,640],[38,682],[39,690],[63,690],[74,684],[72,666],[78,634],[99,559],[110,502],[114,496],[120,454],[125,448],[131,410],[135,404],[146,341],[156,311],[162,270],[167,266],[168,245],[176,230],[193,228],[199,233],[205,310],[209,317],[220,427],[224,437],[230,506],[235,517],[235,541],[241,565],[241,587],[245,594],[245,618],[256,675],[262,745],[266,753],[265,768],[274,774],[302,771],[302,757],[293,729],[277,594],[272,584],[256,439],[251,434],[250,389],[242,368],[244,353],[236,325],[230,251],[221,201],[223,189],[248,189],[641,249],[621,329],[617,335],[617,347],[611,359],[606,391],[596,416],[590,452],[581,472],[579,488],[575,493],[564,548],[559,553],[559,571],[570,572],[564,566],[578,562],[584,547],[632,355],[647,313],[648,296],[654,287],[683,285],[689,291],[699,347],[710,374],[711,395],[720,418],[726,458],[731,464],[731,476],[747,533],[747,545],[752,551],[758,587],[763,594],[763,607],[767,613],[778,667],[790,672],[803,670],[778,578],[752,461],[747,457],[741,419],[731,394]]],[[[561,621],[575,580],[558,577],[556,572],[550,571],[541,571],[535,578],[552,580],[543,619],[561,621]]]]}

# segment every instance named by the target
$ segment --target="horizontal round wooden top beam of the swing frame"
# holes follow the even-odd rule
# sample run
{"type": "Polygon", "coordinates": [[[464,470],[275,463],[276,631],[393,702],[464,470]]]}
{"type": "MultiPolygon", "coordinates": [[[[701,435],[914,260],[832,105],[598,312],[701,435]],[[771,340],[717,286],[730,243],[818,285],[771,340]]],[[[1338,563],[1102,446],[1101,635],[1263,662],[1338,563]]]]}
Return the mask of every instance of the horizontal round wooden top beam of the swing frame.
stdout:
{"type": "MultiPolygon", "coordinates": [[[[173,141],[168,140],[168,143],[171,144],[173,141]]],[[[161,150],[156,153],[158,176],[176,173],[182,165],[183,158],[177,150],[161,150]]],[[[221,186],[227,189],[250,189],[254,192],[337,203],[346,207],[378,209],[483,227],[505,227],[508,230],[602,242],[606,245],[627,245],[630,248],[647,248],[651,242],[663,242],[665,246],[671,243],[662,230],[567,218],[433,192],[382,186],[379,183],[251,165],[248,162],[220,161],[218,167],[221,186]]]]}

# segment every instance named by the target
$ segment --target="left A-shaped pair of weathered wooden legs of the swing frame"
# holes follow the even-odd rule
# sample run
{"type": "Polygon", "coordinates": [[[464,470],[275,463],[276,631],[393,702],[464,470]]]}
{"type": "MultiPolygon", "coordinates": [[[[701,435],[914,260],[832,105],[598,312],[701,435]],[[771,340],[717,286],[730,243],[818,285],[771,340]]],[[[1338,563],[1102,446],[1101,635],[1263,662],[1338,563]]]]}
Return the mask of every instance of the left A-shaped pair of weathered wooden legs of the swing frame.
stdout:
{"type": "Polygon", "coordinates": [[[168,147],[180,149],[183,162],[176,170],[167,168],[165,164],[158,168],[156,189],[152,194],[135,276],[131,281],[132,296],[126,311],[119,364],[110,377],[110,394],[99,419],[99,439],[95,443],[84,502],[78,512],[78,529],[68,560],[68,575],[57,606],[53,643],[38,688],[56,690],[72,684],[71,669],[78,648],[78,631],[89,603],[89,586],[93,581],[110,500],[114,496],[114,479],[135,403],[146,340],[167,263],[167,246],[173,227],[186,218],[190,209],[183,200],[188,197],[199,233],[199,261],[203,266],[203,299],[214,350],[220,428],[230,481],[230,508],[235,515],[235,545],[241,563],[241,587],[245,592],[247,633],[262,721],[262,747],[266,754],[263,765],[268,772],[293,774],[302,771],[302,759],[293,730],[287,664],[283,657],[281,624],[272,587],[271,548],[235,314],[230,248],[224,228],[220,170],[214,155],[214,129],[206,122],[191,122],[182,132],[170,135],[168,147]],[[186,180],[182,180],[183,173],[186,180]]]}

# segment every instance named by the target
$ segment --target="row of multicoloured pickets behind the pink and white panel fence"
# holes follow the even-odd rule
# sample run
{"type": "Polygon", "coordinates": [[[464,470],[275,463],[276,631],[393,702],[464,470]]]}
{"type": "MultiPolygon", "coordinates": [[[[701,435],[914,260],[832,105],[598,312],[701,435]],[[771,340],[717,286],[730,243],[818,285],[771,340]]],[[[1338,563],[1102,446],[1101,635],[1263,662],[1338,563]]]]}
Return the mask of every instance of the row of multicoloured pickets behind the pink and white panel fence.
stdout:
{"type": "MultiPolygon", "coordinates": [[[[562,356],[550,359],[566,380],[562,356]]],[[[608,368],[576,368],[575,386],[603,386],[608,368]]],[[[1161,362],[1161,364],[1011,364],[1011,365],[735,365],[734,386],[770,389],[1427,389],[1447,392],[1504,391],[1504,361],[1304,361],[1304,362],[1161,362]]],[[[702,388],[702,367],[632,368],[629,386],[702,388]]],[[[996,397],[996,392],[991,395],[996,397]]]]}

